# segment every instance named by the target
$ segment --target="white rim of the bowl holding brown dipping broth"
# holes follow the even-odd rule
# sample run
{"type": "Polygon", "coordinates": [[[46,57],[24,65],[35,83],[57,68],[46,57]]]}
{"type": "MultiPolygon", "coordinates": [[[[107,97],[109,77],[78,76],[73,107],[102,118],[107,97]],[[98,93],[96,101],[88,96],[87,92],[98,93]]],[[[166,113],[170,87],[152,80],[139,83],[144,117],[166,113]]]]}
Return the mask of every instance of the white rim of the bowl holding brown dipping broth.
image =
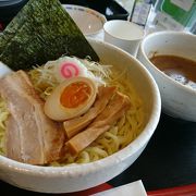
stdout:
{"type": "MultiPolygon", "coordinates": [[[[146,52],[145,52],[145,44],[146,41],[148,41],[149,39],[157,37],[157,36],[164,36],[164,35],[179,35],[179,36],[188,36],[192,37],[194,39],[196,39],[196,35],[186,33],[186,32],[174,32],[174,30],[162,30],[162,32],[156,32],[156,33],[151,33],[149,35],[147,35],[142,41],[140,41],[140,51],[143,57],[145,58],[145,60],[148,62],[148,64],[150,65],[150,68],[156,71],[158,74],[161,75],[161,77],[164,77],[169,83],[173,84],[174,86],[176,86],[177,88],[182,88],[183,90],[196,95],[196,89],[183,85],[174,79],[172,79],[169,75],[164,74],[162,71],[160,71],[154,63],[151,63],[151,61],[148,59],[146,52]]],[[[181,57],[181,56],[180,56],[181,57]]]]}

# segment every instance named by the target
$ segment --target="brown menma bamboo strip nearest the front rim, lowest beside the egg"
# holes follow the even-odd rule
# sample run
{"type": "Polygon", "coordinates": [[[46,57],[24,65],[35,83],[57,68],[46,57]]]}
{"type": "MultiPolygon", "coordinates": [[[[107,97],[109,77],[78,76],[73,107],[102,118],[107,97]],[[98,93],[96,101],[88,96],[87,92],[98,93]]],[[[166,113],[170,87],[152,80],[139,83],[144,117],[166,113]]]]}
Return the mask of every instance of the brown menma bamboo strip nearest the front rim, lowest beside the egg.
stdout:
{"type": "Polygon", "coordinates": [[[107,132],[131,107],[131,100],[126,95],[115,93],[103,111],[93,121],[89,126],[72,137],[65,146],[76,155],[90,145],[97,137],[107,132]]]}

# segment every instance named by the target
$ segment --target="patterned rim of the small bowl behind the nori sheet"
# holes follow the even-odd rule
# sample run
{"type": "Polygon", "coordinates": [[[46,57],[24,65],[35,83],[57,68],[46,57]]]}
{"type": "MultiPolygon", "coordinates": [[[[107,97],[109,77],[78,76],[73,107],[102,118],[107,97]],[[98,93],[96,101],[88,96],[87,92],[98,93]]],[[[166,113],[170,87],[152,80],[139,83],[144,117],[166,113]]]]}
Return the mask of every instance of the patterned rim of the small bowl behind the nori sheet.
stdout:
{"type": "Polygon", "coordinates": [[[79,11],[79,12],[86,12],[86,13],[88,13],[88,14],[90,14],[90,15],[96,16],[96,17],[101,22],[101,24],[102,24],[102,27],[101,27],[101,28],[99,28],[99,29],[97,29],[97,30],[95,30],[95,32],[83,33],[85,36],[90,36],[90,35],[95,35],[95,34],[100,33],[101,29],[103,28],[105,23],[107,22],[106,16],[105,16],[102,13],[100,13],[100,12],[94,10],[94,9],[86,8],[86,7],[83,7],[83,5],[77,5],[77,4],[62,4],[62,7],[63,7],[65,10],[69,9],[69,10],[77,11],[77,12],[78,12],[78,11],[79,11]]]}

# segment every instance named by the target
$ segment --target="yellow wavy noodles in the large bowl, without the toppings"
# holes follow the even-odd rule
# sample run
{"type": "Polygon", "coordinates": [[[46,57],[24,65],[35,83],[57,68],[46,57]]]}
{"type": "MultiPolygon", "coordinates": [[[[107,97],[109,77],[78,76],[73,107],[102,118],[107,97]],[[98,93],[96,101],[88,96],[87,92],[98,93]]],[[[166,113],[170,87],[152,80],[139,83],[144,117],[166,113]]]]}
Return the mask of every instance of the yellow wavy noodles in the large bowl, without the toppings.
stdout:
{"type": "MultiPolygon", "coordinates": [[[[102,159],[127,146],[132,140],[137,137],[137,135],[143,130],[143,102],[138,95],[135,93],[135,89],[127,81],[127,75],[125,74],[125,72],[124,74],[121,74],[121,76],[119,76],[118,72],[113,70],[111,71],[110,66],[107,66],[106,70],[103,66],[99,66],[100,69],[97,69],[99,70],[98,76],[101,77],[101,79],[103,79],[107,85],[115,85],[119,91],[127,95],[131,99],[132,107],[115,124],[113,124],[113,126],[108,132],[97,138],[85,150],[79,152],[78,156],[73,157],[70,154],[66,154],[61,162],[52,162],[52,166],[86,163],[102,159]],[[110,70],[108,71],[108,69],[110,70]]],[[[96,74],[96,70],[93,70],[94,74],[96,74]]],[[[53,88],[58,85],[57,79],[52,75],[51,65],[35,68],[34,70],[29,71],[29,76],[33,81],[35,88],[39,91],[40,96],[44,99],[46,99],[47,96],[50,95],[53,88]]],[[[7,110],[5,102],[0,99],[0,154],[4,154],[4,123],[8,115],[9,112],[7,110]]]]}

